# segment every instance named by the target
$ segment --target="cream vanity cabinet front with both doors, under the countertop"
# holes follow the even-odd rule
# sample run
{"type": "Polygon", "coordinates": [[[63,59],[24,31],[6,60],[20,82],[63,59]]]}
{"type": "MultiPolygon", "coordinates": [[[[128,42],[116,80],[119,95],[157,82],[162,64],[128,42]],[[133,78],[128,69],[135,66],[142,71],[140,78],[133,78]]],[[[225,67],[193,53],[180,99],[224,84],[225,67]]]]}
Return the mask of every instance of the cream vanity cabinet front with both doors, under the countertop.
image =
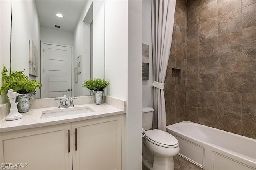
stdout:
{"type": "Polygon", "coordinates": [[[122,115],[3,132],[0,137],[1,163],[27,164],[26,170],[122,169],[122,115]]]}

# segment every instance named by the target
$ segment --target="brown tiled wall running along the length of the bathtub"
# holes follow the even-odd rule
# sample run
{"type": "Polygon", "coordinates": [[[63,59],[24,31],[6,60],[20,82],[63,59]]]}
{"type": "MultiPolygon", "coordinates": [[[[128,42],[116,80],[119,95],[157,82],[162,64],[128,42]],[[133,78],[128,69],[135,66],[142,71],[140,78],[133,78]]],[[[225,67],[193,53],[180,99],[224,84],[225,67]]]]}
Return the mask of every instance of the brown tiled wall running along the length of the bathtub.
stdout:
{"type": "Polygon", "coordinates": [[[255,9],[255,0],[187,1],[186,120],[256,138],[255,9]]]}

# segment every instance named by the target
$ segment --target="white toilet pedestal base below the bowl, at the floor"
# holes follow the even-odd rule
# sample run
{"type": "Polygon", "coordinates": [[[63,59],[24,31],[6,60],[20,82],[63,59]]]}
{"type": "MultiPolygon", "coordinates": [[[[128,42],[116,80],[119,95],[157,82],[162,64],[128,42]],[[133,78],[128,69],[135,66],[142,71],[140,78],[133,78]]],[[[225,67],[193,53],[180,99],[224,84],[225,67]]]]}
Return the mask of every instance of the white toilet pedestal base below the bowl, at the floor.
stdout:
{"type": "Polygon", "coordinates": [[[173,157],[154,156],[152,170],[174,170],[173,157]]]}

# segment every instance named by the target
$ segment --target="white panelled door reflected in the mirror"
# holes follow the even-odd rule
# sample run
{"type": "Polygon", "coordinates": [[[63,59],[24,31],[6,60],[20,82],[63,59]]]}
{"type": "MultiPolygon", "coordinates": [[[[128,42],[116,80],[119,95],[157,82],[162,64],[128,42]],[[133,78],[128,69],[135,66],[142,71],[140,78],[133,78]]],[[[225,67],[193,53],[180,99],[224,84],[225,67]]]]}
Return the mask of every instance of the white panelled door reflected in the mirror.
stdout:
{"type": "Polygon", "coordinates": [[[44,97],[71,96],[71,47],[44,44],[44,97]]]}

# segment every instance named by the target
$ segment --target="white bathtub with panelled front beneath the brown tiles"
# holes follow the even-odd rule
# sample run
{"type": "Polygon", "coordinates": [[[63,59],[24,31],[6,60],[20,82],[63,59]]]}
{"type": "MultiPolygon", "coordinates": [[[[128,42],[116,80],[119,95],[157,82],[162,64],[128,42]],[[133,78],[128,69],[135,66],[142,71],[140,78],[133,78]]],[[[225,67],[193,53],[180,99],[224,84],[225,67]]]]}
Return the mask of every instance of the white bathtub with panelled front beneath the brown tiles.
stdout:
{"type": "Polygon", "coordinates": [[[190,121],[166,131],[177,138],[179,155],[205,170],[256,170],[255,139],[190,121]]]}

